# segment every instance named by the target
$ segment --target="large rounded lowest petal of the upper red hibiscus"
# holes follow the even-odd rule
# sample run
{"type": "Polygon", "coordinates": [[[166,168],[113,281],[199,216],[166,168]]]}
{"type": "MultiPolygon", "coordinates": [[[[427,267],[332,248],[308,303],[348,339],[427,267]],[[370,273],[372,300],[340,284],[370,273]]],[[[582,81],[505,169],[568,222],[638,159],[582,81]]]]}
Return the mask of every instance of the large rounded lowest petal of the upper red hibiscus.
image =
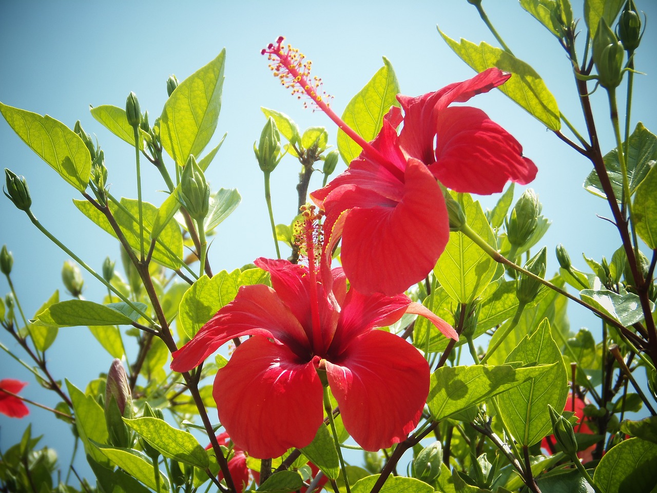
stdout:
{"type": "Polygon", "coordinates": [[[396,207],[348,212],[342,231],[342,266],[357,291],[392,296],[424,279],[448,240],[442,191],[426,166],[411,158],[403,199],[396,207]]]}

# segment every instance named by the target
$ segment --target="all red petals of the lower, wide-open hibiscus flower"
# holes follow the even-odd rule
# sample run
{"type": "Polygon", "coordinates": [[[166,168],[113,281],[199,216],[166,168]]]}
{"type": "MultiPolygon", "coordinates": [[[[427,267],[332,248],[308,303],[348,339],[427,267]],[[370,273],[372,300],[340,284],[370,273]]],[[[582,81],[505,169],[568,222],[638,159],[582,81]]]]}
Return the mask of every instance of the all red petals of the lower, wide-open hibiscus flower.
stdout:
{"type": "Polygon", "coordinates": [[[225,342],[252,336],[214,381],[219,421],[235,445],[255,458],[307,446],[324,419],[317,369],[325,370],[344,427],[361,447],[404,440],[422,414],[429,367],[409,342],[376,327],[411,313],[457,339],[454,329],[403,294],[347,291],[341,268],[321,273],[311,259],[311,268],[265,258],[255,264],[270,273],[273,289],[240,287],[171,362],[189,371],[225,342]]]}

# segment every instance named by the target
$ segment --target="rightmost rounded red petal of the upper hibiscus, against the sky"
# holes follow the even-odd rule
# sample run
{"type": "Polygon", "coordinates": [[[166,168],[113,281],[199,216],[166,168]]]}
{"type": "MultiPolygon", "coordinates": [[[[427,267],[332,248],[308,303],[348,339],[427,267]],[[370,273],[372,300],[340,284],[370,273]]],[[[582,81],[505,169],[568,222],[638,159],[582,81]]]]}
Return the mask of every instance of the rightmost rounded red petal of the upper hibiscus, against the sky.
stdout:
{"type": "Polygon", "coordinates": [[[522,146],[478,108],[445,108],[437,121],[436,164],[430,166],[445,187],[488,195],[507,181],[525,185],[537,168],[522,156],[522,146]]]}

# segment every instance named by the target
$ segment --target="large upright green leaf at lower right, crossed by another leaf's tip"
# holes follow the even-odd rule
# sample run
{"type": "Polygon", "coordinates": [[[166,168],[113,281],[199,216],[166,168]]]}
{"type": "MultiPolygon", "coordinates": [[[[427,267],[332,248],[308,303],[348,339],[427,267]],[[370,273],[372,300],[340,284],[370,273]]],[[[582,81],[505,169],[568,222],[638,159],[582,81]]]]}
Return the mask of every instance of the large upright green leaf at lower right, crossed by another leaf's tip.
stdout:
{"type": "Polygon", "coordinates": [[[532,335],[524,337],[509,354],[507,362],[556,364],[526,383],[497,398],[502,420],[522,445],[530,446],[550,433],[552,423],[547,405],[562,410],[568,397],[568,374],[561,352],[544,319],[532,335]]]}

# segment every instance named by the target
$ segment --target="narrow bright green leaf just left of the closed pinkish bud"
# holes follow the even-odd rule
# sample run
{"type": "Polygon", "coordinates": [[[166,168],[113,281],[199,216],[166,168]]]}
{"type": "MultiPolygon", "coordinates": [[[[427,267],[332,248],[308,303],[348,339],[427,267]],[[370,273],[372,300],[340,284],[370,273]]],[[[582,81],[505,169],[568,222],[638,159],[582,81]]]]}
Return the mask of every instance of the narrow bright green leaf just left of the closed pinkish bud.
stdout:
{"type": "Polygon", "coordinates": [[[85,396],[79,388],[68,380],[66,380],[66,388],[73,403],[73,411],[76,416],[76,429],[78,430],[78,435],[82,440],[85,451],[95,461],[107,467],[108,460],[106,457],[89,442],[89,440],[94,440],[95,442],[105,443],[109,438],[104,411],[92,396],[85,396]]]}

